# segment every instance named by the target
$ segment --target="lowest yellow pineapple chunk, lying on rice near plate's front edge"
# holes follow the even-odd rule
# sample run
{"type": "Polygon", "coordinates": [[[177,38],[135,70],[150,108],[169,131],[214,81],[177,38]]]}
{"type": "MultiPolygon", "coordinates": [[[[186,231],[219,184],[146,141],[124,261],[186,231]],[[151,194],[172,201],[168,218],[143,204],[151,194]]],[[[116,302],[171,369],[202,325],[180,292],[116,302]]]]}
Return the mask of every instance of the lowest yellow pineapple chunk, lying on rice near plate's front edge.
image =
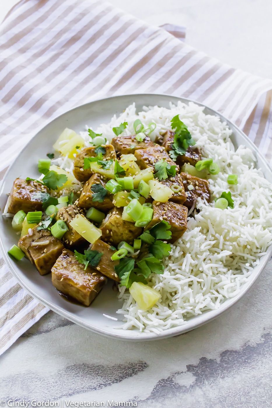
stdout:
{"type": "Polygon", "coordinates": [[[155,289],[150,288],[150,286],[142,282],[133,282],[129,288],[129,292],[141,310],[152,308],[161,297],[155,289]]]}

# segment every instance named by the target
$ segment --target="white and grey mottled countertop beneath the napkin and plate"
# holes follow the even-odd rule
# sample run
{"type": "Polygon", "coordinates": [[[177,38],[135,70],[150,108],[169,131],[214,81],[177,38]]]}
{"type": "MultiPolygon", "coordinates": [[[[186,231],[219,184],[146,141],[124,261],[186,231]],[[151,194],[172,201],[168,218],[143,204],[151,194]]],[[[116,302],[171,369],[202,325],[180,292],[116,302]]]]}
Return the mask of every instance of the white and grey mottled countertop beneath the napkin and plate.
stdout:
{"type": "MultiPolygon", "coordinates": [[[[151,24],[185,25],[188,44],[272,78],[272,2],[111,3],[151,24]]],[[[108,400],[137,401],[142,408],[271,407],[271,271],[272,261],[221,317],[160,341],[116,341],[49,312],[0,357],[0,400],[59,401],[63,407],[65,401],[107,406],[108,400]]]]}

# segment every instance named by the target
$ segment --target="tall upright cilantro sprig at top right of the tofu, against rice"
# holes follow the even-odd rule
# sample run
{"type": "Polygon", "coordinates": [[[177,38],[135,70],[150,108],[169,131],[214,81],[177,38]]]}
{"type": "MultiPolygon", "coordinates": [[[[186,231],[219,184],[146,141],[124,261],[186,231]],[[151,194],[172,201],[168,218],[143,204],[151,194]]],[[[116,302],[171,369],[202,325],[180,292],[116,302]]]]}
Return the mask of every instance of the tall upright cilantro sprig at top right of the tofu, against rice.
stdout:
{"type": "Polygon", "coordinates": [[[171,127],[172,129],[175,129],[175,135],[172,144],[173,150],[170,151],[170,157],[172,157],[173,160],[176,160],[178,155],[185,154],[188,147],[194,146],[196,142],[188,131],[187,126],[180,120],[178,115],[174,116],[171,120],[171,127]]]}

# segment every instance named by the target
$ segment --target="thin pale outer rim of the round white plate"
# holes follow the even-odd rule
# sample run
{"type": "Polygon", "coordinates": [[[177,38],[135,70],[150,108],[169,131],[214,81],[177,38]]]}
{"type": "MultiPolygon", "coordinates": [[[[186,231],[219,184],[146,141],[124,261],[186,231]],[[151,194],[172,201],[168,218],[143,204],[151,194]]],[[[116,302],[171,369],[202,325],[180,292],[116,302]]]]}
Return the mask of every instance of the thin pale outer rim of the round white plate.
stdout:
{"type": "MultiPolygon", "coordinates": [[[[33,135],[33,137],[31,137],[31,139],[20,150],[20,152],[16,155],[14,160],[9,165],[9,167],[8,167],[6,173],[4,174],[4,177],[3,177],[2,181],[1,181],[1,184],[0,184],[0,195],[2,195],[2,190],[4,188],[5,180],[6,180],[7,176],[8,176],[8,174],[9,174],[9,171],[13,167],[13,164],[16,162],[17,158],[20,156],[22,151],[24,151],[25,149],[28,148],[29,144],[32,142],[32,140],[34,138],[37,137],[38,133],[40,133],[42,130],[44,130],[49,124],[51,124],[54,121],[59,120],[63,115],[66,115],[67,113],[72,113],[73,111],[76,111],[77,109],[83,108],[84,106],[87,106],[87,105],[95,104],[96,102],[103,102],[103,101],[106,101],[106,100],[113,100],[113,99],[119,99],[119,98],[137,98],[137,97],[146,97],[146,96],[152,96],[152,97],[157,96],[158,98],[162,98],[162,97],[163,98],[164,97],[172,98],[174,100],[173,101],[174,104],[176,104],[179,100],[181,102],[185,102],[185,103],[187,102],[187,104],[189,102],[193,102],[194,104],[197,104],[198,106],[201,106],[201,107],[204,107],[205,109],[208,109],[213,115],[218,116],[221,120],[223,120],[224,122],[227,122],[227,124],[230,124],[232,126],[232,128],[234,128],[236,130],[236,132],[240,133],[240,135],[243,138],[246,138],[247,143],[250,144],[252,151],[254,151],[254,153],[256,153],[256,155],[259,156],[260,160],[263,162],[263,164],[267,167],[267,169],[270,171],[270,173],[272,175],[272,167],[270,166],[268,161],[265,159],[263,154],[259,151],[259,149],[252,142],[252,140],[250,140],[249,137],[247,137],[247,135],[245,135],[245,133],[241,129],[239,129],[239,127],[236,126],[236,124],[234,122],[227,119],[224,115],[222,115],[220,112],[216,111],[215,109],[211,108],[210,106],[205,105],[205,104],[203,104],[201,102],[192,100],[190,98],[184,98],[182,96],[178,97],[178,96],[175,96],[175,95],[157,94],[157,93],[132,93],[132,94],[124,94],[124,95],[114,95],[114,96],[110,96],[110,97],[107,97],[107,98],[100,98],[100,99],[97,99],[97,100],[94,100],[94,101],[91,101],[91,102],[86,102],[84,104],[80,104],[78,106],[75,106],[72,109],[69,109],[69,110],[61,113],[60,115],[56,116],[56,118],[54,118],[52,120],[49,120],[44,126],[42,126],[42,128],[40,128],[38,130],[38,132],[35,135],[33,135]]],[[[208,113],[208,114],[210,114],[210,113],[208,113]]],[[[16,270],[13,268],[13,265],[11,264],[11,259],[9,258],[8,254],[5,253],[3,242],[2,242],[2,234],[0,234],[0,249],[1,249],[1,252],[2,252],[2,256],[3,256],[4,260],[5,260],[5,262],[7,263],[7,265],[9,266],[9,269],[11,270],[13,276],[16,277],[16,279],[18,280],[18,282],[20,283],[22,288],[24,288],[29,294],[31,294],[31,296],[33,296],[34,299],[38,299],[38,301],[41,304],[43,304],[46,307],[49,307],[55,313],[58,313],[62,317],[65,317],[68,320],[70,320],[71,322],[74,322],[75,324],[78,324],[79,326],[82,326],[82,327],[84,327],[84,328],[86,328],[88,330],[91,330],[94,333],[98,333],[98,334],[104,335],[106,337],[111,337],[111,338],[114,338],[114,339],[120,339],[120,340],[125,340],[125,341],[151,341],[151,340],[165,339],[167,337],[174,337],[174,336],[177,337],[177,336],[182,335],[182,334],[184,334],[184,333],[186,333],[186,332],[188,332],[190,330],[198,328],[198,327],[202,326],[203,324],[211,322],[216,317],[221,316],[226,310],[230,309],[234,304],[236,304],[241,299],[241,297],[243,297],[243,295],[245,295],[245,293],[252,287],[252,285],[259,278],[259,276],[261,275],[263,269],[265,268],[266,264],[268,263],[271,255],[272,255],[272,244],[270,244],[270,246],[268,247],[268,250],[266,251],[266,255],[262,257],[261,262],[263,262],[263,264],[261,265],[259,271],[255,275],[252,274],[250,276],[250,278],[249,278],[249,281],[246,282],[245,284],[243,284],[240,293],[238,295],[236,295],[235,297],[231,298],[231,299],[225,300],[218,309],[207,310],[206,312],[202,313],[201,315],[198,315],[198,318],[199,318],[198,323],[194,323],[194,317],[192,317],[189,320],[187,320],[185,322],[185,324],[163,330],[159,334],[157,334],[157,333],[143,333],[143,332],[139,332],[138,330],[128,330],[130,333],[133,332],[135,334],[134,335],[126,335],[125,333],[127,333],[127,330],[123,330],[122,328],[115,329],[116,333],[112,333],[112,332],[108,332],[107,330],[105,330],[103,328],[98,328],[98,327],[93,326],[91,324],[87,325],[86,323],[82,322],[79,318],[71,316],[69,314],[69,312],[66,312],[66,311],[58,308],[58,306],[52,304],[50,300],[43,299],[39,295],[36,295],[36,293],[33,293],[33,290],[31,290],[27,286],[27,284],[23,281],[23,279],[21,279],[20,275],[17,274],[16,270]],[[202,319],[201,319],[201,317],[202,317],[202,319]]]]}

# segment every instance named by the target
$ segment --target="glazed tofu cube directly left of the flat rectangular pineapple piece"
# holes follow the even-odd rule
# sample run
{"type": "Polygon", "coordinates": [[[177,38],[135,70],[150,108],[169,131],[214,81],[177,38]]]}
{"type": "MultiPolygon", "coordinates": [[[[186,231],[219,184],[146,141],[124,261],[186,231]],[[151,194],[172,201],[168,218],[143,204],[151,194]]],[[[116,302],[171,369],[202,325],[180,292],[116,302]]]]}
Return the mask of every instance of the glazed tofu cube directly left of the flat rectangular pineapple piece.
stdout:
{"type": "Polygon", "coordinates": [[[63,220],[66,222],[68,230],[63,235],[63,241],[65,242],[65,246],[68,248],[73,248],[80,245],[87,244],[86,239],[84,239],[74,228],[71,227],[70,221],[73,220],[74,217],[78,213],[84,213],[84,211],[78,208],[75,204],[73,206],[69,205],[68,207],[62,207],[56,213],[56,220],[63,220]]]}

